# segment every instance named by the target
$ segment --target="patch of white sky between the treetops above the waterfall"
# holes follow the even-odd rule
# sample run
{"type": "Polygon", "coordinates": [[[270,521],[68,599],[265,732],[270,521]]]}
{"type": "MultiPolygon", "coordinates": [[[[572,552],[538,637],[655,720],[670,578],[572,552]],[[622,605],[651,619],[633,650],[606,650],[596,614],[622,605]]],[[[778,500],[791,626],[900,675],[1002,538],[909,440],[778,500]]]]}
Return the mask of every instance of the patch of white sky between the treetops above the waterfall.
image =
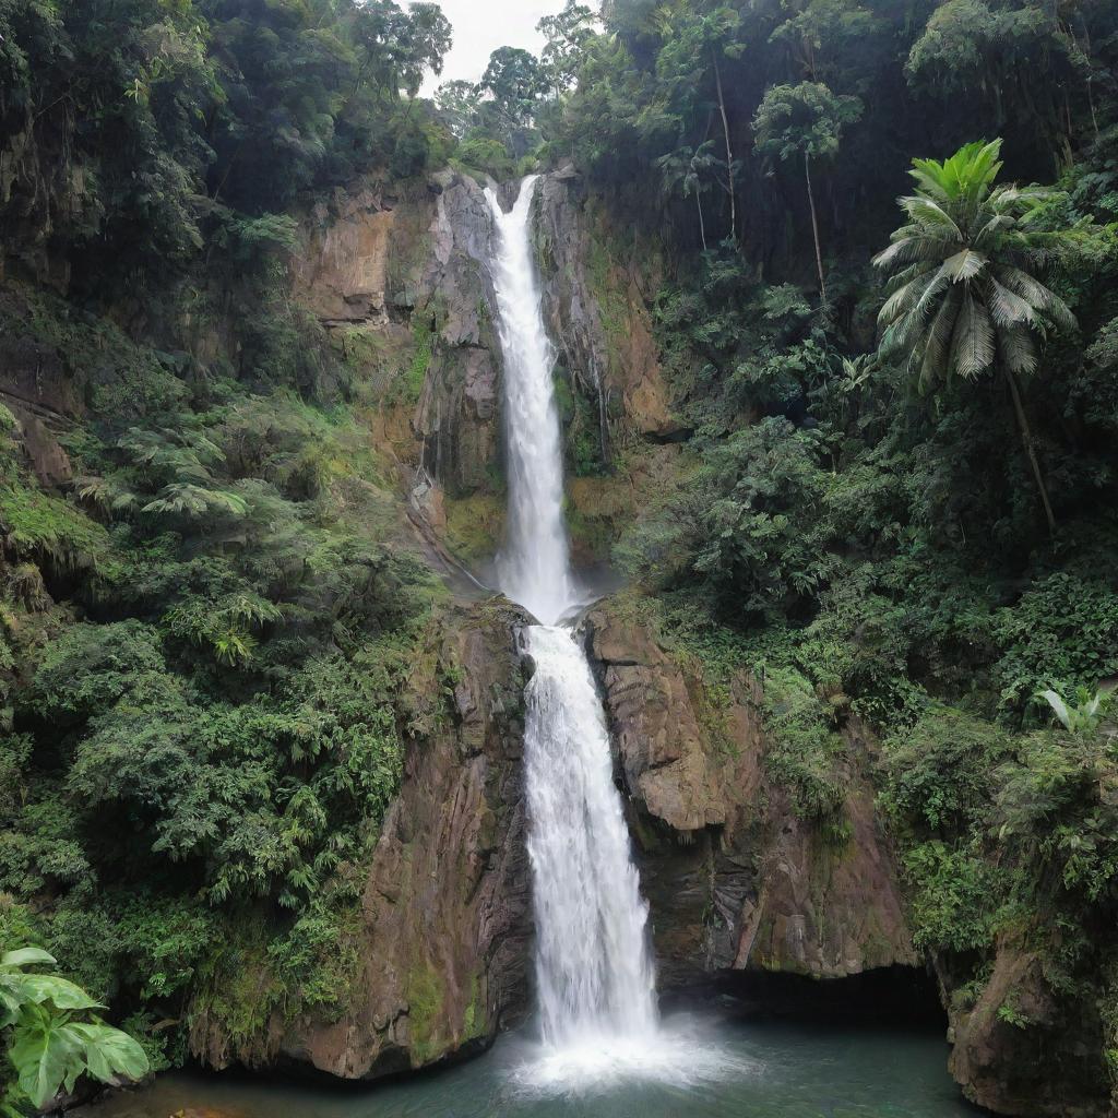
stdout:
{"type": "Polygon", "coordinates": [[[536,25],[560,11],[563,0],[437,0],[454,25],[454,46],[443,60],[439,77],[428,74],[421,96],[429,97],[440,83],[453,78],[476,82],[498,47],[523,47],[533,55],[543,46],[536,25]]]}

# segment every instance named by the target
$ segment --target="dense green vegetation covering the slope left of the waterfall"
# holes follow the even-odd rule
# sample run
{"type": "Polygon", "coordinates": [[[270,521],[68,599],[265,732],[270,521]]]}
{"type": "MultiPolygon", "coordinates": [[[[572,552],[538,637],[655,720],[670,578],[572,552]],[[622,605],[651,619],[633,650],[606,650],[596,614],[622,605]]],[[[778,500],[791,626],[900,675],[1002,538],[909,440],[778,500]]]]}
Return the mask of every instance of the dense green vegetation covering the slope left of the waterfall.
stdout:
{"type": "Polygon", "coordinates": [[[416,92],[448,41],[391,0],[0,4],[0,368],[40,370],[73,475],[40,482],[6,380],[0,949],[92,992],[6,997],[8,1112],[345,1007],[445,702],[415,683],[442,590],[356,380],[414,402],[430,339],[347,360],[287,254],[318,192],[445,163],[416,92]]]}

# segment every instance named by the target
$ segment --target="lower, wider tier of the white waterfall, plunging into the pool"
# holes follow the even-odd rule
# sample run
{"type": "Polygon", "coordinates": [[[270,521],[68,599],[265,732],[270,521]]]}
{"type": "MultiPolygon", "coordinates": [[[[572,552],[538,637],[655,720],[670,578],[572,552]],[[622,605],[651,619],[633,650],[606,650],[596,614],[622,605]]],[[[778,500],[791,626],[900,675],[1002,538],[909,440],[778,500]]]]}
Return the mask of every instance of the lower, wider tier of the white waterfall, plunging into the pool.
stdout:
{"type": "Polygon", "coordinates": [[[543,1040],[651,1040],[648,911],[590,666],[567,629],[533,627],[527,645],[536,662],[524,739],[543,1040]]]}

